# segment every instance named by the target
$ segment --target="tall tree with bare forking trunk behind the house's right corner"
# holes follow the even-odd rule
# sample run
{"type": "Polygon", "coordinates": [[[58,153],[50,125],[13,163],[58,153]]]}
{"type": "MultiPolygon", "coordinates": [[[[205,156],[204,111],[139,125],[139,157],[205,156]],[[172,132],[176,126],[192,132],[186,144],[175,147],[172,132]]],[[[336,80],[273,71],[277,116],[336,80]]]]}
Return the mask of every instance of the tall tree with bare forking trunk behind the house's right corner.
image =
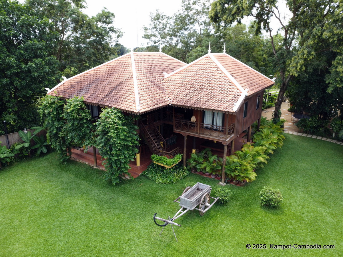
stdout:
{"type": "MultiPolygon", "coordinates": [[[[297,42],[302,45],[306,44],[307,40],[299,39],[308,38],[308,32],[316,27],[314,19],[321,21],[321,24],[330,19],[331,15],[329,14],[336,11],[339,1],[341,0],[288,0],[286,5],[291,16],[287,22],[284,22],[280,14],[277,0],[216,0],[212,3],[210,19],[216,23],[217,28],[227,27],[235,21],[240,23],[243,17],[251,16],[254,18],[256,33],[260,33],[263,29],[269,34],[277,66],[277,78],[280,83],[279,96],[275,103],[274,122],[280,119],[279,111],[285,90],[294,76],[294,73],[289,71],[289,65],[294,56],[293,49],[298,46],[297,42]],[[282,32],[283,41],[280,49],[275,46],[275,35],[272,33],[271,26],[272,17],[280,25],[278,31],[282,32]]],[[[306,61],[306,56],[302,60],[306,61]]]]}

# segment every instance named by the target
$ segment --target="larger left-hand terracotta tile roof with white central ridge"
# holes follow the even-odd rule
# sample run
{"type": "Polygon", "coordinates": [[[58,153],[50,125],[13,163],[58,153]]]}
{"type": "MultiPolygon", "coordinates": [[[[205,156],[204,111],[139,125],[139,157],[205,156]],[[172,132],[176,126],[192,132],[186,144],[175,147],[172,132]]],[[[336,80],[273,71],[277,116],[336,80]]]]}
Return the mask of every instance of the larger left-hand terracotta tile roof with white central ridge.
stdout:
{"type": "Polygon", "coordinates": [[[163,73],[184,65],[164,53],[131,52],[61,82],[48,94],[83,96],[86,103],[142,113],[170,103],[163,73]]]}

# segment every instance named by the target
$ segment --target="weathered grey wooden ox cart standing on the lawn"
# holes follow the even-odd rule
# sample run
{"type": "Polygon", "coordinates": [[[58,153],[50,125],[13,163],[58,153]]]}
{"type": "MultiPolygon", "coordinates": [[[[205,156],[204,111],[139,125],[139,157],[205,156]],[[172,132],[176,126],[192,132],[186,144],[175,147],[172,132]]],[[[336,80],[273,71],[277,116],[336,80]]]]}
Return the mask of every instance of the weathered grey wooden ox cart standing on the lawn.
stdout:
{"type": "MultiPolygon", "coordinates": [[[[211,197],[210,193],[211,193],[211,186],[202,184],[200,182],[198,182],[192,187],[190,186],[186,187],[182,195],[174,200],[174,202],[179,203],[179,205],[181,206],[181,208],[174,215],[174,217],[170,218],[170,216],[168,216],[168,219],[162,219],[162,218],[156,217],[157,213],[155,213],[154,214],[155,224],[160,227],[163,227],[163,229],[166,225],[170,224],[175,235],[173,225],[176,225],[179,227],[181,226],[180,224],[177,224],[174,222],[177,218],[181,217],[189,210],[198,210],[200,215],[203,216],[204,213],[208,211],[214,205],[214,203],[219,199],[219,197],[217,198],[211,197]],[[212,203],[211,203],[211,199],[213,199],[212,203]],[[197,206],[199,207],[197,208],[197,206]],[[161,220],[164,223],[158,224],[156,220],[161,220]]],[[[162,234],[163,229],[161,233],[159,233],[160,235],[162,234]]],[[[176,235],[175,235],[175,238],[176,238],[176,235]]],[[[177,241],[177,238],[176,238],[176,241],[177,241]]]]}

